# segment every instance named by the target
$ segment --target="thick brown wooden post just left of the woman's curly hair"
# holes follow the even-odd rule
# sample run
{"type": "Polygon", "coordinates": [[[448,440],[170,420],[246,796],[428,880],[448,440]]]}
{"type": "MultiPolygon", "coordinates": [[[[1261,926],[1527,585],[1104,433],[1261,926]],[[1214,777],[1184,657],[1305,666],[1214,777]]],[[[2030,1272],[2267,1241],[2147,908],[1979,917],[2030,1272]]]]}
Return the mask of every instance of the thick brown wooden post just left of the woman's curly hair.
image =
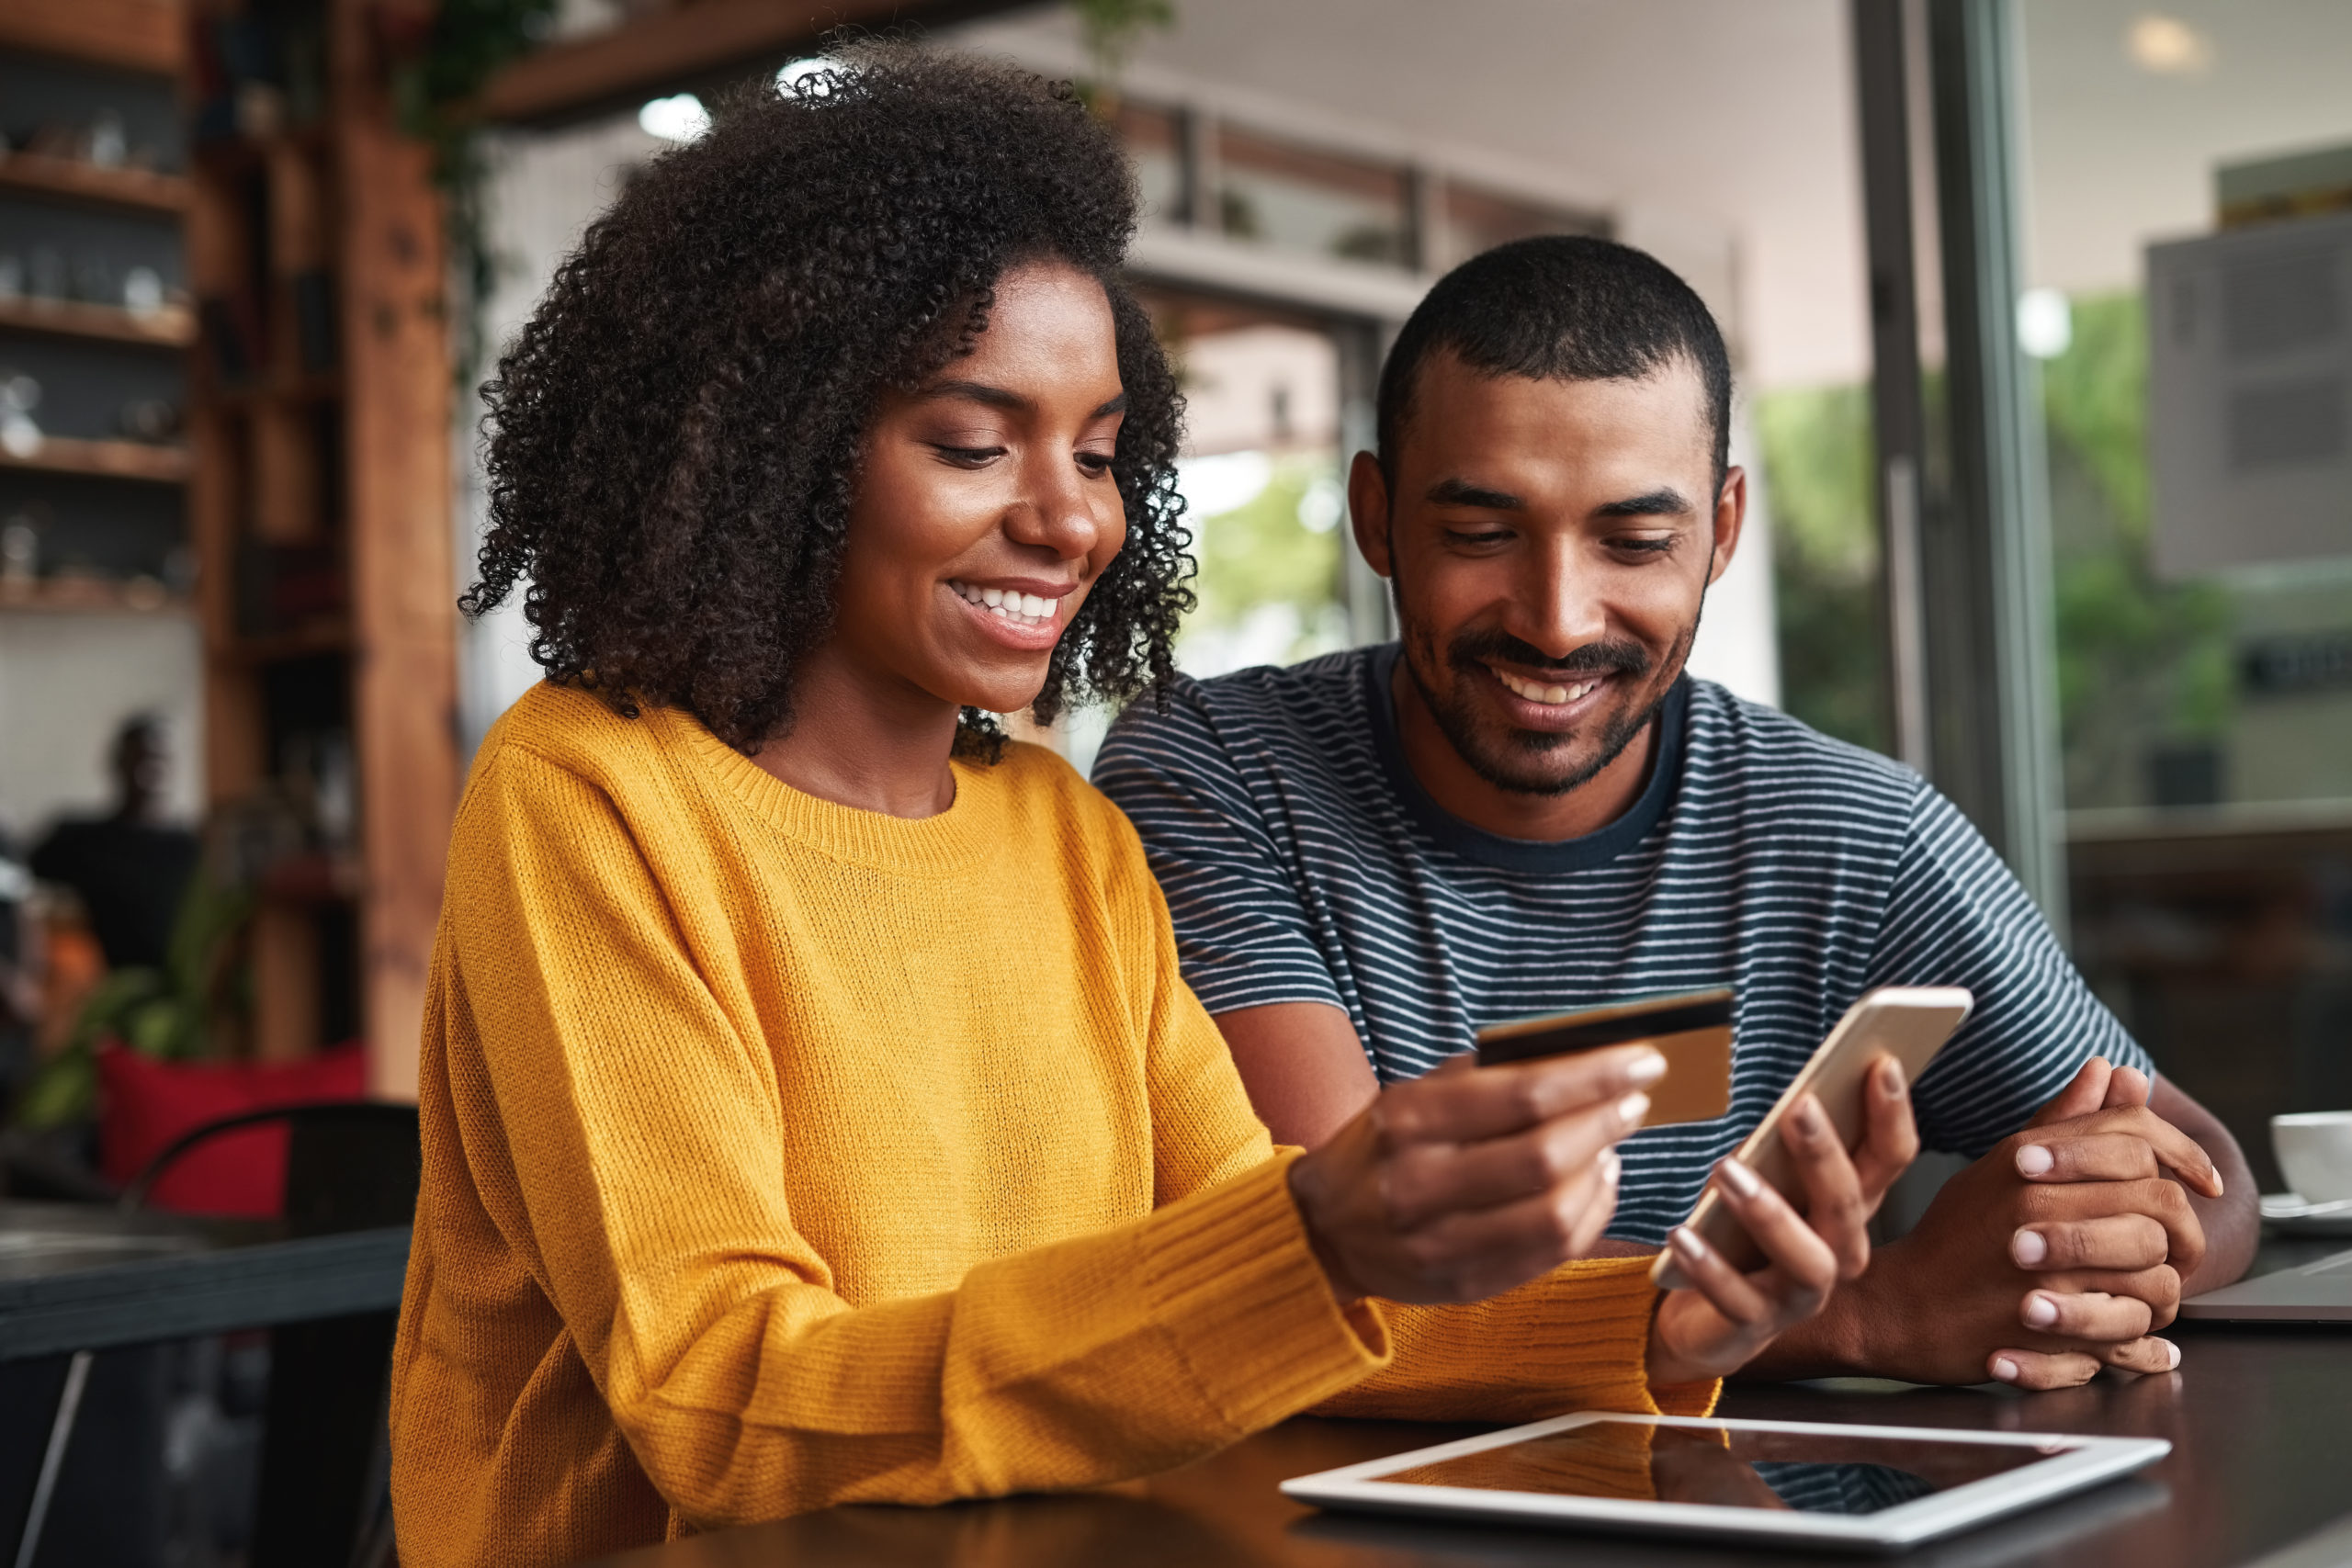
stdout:
{"type": "Polygon", "coordinates": [[[369,7],[334,0],[343,202],[360,1018],[369,1088],[416,1095],[426,966],[456,813],[456,585],[442,202],[402,136],[369,7]]]}

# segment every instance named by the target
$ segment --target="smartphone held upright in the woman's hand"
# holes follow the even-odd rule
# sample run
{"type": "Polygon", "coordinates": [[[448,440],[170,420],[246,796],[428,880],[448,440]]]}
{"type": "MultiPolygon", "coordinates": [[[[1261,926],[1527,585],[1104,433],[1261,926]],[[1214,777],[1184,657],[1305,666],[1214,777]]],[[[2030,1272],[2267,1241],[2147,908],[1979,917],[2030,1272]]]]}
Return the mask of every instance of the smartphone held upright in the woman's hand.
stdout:
{"type": "MultiPolygon", "coordinates": [[[[1797,1159],[1780,1140],[1780,1117],[1788,1114],[1797,1095],[1811,1091],[1820,1098],[1820,1110],[1830,1114],[1839,1143],[1851,1152],[1863,1140],[1863,1088],[1870,1063],[1891,1056],[1903,1067],[1903,1081],[1917,1084],[1926,1065],[1952,1039],[1952,1030],[1969,1020],[1976,997],[1957,985],[1882,985],[1863,994],[1846,1009],[1830,1037],[1813,1051],[1813,1060],[1790,1081],[1780,1100],[1764,1112],[1748,1143],[1733,1150],[1733,1159],[1762,1175],[1771,1187],[1804,1208],[1804,1178],[1797,1175],[1797,1159]]],[[[1764,1267],[1764,1251],[1748,1237],[1733,1218],[1731,1206],[1710,1185],[1691,1211],[1691,1229],[1698,1239],[1731,1260],[1731,1267],[1764,1267]]],[[[1691,1284],[1675,1265],[1675,1253],[1658,1253],[1649,1269],[1661,1291],[1679,1291],[1691,1284]]]]}

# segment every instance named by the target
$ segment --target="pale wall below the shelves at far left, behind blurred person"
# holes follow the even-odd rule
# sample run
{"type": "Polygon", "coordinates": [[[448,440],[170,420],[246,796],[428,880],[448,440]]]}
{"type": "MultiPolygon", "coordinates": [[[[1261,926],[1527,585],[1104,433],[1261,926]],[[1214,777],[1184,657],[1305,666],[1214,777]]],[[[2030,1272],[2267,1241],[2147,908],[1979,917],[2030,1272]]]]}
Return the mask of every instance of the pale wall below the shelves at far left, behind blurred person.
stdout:
{"type": "Polygon", "coordinates": [[[0,830],[28,849],[64,811],[113,804],[106,752],[153,712],[172,745],[167,811],[205,806],[202,642],[179,614],[0,614],[0,830]]]}

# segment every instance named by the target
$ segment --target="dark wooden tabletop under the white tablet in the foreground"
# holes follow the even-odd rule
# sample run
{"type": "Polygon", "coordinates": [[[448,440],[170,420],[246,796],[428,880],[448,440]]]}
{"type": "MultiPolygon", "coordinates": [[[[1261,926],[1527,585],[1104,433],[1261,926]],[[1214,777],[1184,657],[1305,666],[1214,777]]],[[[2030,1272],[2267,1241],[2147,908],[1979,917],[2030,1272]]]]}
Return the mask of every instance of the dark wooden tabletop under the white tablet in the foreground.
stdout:
{"type": "MultiPolygon", "coordinates": [[[[2331,1248],[2340,1251],[2336,1241],[2331,1248]]],[[[2258,1272],[2331,1248],[2272,1246],[2258,1272]]],[[[2053,1394],[1905,1385],[1731,1385],[1724,1415],[2164,1436],[2154,1469],[1905,1554],[1915,1568],[2234,1568],[2352,1514],[2352,1331],[2178,1331],[2164,1378],[2053,1394]]],[[[837,1507],[609,1559],[612,1568],[1698,1568],[1797,1563],[1769,1549],[1651,1544],[1491,1526],[1317,1514],[1289,1476],[1479,1432],[1291,1420],[1164,1476],[1063,1497],[938,1509],[837,1507]]],[[[2279,1568],[2352,1561],[2352,1535],[2279,1568]]]]}

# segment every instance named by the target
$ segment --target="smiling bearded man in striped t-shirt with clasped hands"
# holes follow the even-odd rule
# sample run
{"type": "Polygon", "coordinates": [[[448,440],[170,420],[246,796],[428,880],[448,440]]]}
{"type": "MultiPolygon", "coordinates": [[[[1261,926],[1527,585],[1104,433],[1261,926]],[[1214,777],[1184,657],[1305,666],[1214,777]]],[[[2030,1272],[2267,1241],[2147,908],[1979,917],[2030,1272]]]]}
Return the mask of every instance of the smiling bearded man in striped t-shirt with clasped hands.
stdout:
{"type": "Polygon", "coordinates": [[[1712,317],[1649,256],[1550,237],[1461,266],[1397,336],[1348,484],[1402,644],[1178,682],[1096,783],[1282,1140],[1479,1025],[1733,985],[1731,1114],[1625,1145],[1618,1246],[1663,1244],[1860,992],[1966,985],[1915,1103],[1976,1164],[1757,1371],[2166,1371],[2150,1331],[2253,1251],[2244,1157],[1950,802],[1684,677],[1748,503],[1729,411],[1712,317]]]}

